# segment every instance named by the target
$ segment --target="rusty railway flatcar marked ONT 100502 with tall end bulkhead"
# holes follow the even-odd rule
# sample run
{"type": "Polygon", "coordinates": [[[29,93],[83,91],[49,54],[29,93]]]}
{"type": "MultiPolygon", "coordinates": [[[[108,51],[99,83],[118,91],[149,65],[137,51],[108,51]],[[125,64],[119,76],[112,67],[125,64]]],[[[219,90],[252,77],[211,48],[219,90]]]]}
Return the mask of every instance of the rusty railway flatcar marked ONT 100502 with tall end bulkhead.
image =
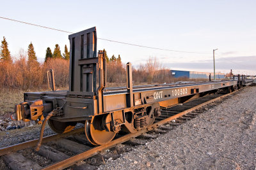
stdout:
{"type": "Polygon", "coordinates": [[[68,38],[69,89],[55,90],[51,71],[52,91],[25,93],[24,102],[15,106],[15,116],[25,122],[35,120],[42,124],[42,129],[48,122],[57,133],[72,131],[77,123],[82,123],[85,138],[92,145],[105,145],[120,131],[134,133],[147,128],[161,115],[161,107],[220,90],[232,92],[243,85],[239,76],[238,80],[132,86],[132,67],[127,63],[127,86],[107,88],[106,59],[102,51],[97,52],[96,27],[68,38]]]}

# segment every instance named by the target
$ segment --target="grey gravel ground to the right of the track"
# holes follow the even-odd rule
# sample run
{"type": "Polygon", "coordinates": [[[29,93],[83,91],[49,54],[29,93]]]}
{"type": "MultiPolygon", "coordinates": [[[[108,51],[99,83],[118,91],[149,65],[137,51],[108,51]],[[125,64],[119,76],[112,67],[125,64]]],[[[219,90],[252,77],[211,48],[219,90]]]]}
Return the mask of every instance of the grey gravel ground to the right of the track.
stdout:
{"type": "Polygon", "coordinates": [[[255,169],[256,87],[246,87],[100,169],[255,169]]]}

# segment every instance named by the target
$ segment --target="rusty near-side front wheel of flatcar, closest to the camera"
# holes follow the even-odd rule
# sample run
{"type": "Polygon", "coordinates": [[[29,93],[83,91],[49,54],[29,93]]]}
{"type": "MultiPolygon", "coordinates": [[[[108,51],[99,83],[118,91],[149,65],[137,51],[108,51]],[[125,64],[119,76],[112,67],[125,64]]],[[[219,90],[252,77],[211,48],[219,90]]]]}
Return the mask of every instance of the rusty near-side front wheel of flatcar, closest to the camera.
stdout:
{"type": "Polygon", "coordinates": [[[92,120],[86,120],[84,128],[86,138],[93,145],[104,145],[115,138],[116,133],[111,131],[110,115],[96,116],[92,120]]]}

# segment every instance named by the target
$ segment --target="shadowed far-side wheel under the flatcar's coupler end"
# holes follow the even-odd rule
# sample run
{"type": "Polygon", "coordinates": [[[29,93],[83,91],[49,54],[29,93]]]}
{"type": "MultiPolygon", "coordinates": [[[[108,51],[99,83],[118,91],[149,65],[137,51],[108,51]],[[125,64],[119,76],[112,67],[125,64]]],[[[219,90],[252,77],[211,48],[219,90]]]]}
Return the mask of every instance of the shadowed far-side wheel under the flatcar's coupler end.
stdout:
{"type": "Polygon", "coordinates": [[[76,127],[77,122],[59,122],[56,120],[48,120],[49,127],[52,131],[61,134],[65,132],[70,132],[74,127],[76,127]]]}

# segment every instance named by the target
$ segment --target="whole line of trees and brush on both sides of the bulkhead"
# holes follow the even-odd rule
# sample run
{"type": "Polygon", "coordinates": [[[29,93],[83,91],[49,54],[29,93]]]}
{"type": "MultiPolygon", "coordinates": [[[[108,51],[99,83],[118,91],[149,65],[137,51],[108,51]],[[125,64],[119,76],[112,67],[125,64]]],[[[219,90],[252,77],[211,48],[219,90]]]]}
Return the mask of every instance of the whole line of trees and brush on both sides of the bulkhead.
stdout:
{"type": "MultiPolygon", "coordinates": [[[[122,63],[120,55],[108,57],[107,82],[109,86],[120,86],[126,83],[126,66],[122,63]]],[[[19,56],[13,60],[6,38],[1,41],[0,47],[0,87],[38,89],[47,87],[47,71],[54,70],[56,87],[68,87],[69,81],[69,57],[67,45],[61,55],[60,46],[55,45],[54,52],[47,48],[45,61],[37,61],[36,52],[32,43],[28,45],[28,51],[21,50],[19,56]]],[[[157,61],[157,58],[148,58],[138,67],[132,67],[132,80],[134,85],[148,83],[172,83],[184,81],[184,78],[173,78],[170,69],[166,69],[157,61]]]]}

